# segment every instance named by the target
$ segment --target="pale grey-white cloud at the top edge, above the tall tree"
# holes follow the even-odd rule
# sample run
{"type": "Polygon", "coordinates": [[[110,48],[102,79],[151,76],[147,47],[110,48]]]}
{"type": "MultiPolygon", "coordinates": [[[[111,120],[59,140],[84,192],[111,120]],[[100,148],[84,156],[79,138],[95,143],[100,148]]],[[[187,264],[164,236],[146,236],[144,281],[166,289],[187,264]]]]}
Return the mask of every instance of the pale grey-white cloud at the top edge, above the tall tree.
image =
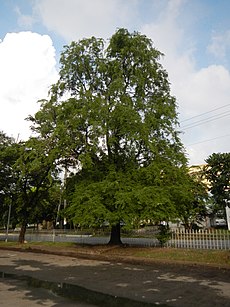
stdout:
{"type": "Polygon", "coordinates": [[[44,25],[67,41],[109,38],[136,16],[137,0],[39,0],[35,10],[44,25]]]}

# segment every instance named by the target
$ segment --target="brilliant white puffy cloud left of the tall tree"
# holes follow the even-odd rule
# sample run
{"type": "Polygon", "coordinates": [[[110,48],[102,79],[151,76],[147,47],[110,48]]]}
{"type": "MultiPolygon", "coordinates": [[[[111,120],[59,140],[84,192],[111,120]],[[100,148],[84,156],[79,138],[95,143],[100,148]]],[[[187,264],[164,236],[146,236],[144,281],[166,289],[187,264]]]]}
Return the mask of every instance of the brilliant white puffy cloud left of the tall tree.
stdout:
{"type": "Polygon", "coordinates": [[[20,139],[30,134],[24,121],[34,114],[57,79],[55,49],[47,35],[8,33],[0,42],[0,130],[20,139]]]}

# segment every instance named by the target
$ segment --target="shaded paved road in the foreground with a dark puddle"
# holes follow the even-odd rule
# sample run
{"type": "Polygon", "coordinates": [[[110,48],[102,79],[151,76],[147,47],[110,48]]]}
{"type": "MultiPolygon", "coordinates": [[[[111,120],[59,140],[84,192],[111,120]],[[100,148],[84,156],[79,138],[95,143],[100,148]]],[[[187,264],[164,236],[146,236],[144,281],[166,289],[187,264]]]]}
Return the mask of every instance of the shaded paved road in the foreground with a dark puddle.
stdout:
{"type": "Polygon", "coordinates": [[[230,306],[230,272],[224,269],[1,250],[0,272],[1,306],[230,306]],[[75,301],[57,296],[60,291],[75,301]]]}

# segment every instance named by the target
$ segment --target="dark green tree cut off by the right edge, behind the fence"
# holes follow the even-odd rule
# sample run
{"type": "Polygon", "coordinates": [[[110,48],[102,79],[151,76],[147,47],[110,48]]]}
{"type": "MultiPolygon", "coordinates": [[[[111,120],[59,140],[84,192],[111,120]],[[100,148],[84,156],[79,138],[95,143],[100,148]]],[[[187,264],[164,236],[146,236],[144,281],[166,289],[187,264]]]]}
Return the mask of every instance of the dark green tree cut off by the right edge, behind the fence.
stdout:
{"type": "Polygon", "coordinates": [[[213,153],[206,162],[205,176],[215,203],[214,211],[224,212],[230,206],[230,153],[213,153]]]}

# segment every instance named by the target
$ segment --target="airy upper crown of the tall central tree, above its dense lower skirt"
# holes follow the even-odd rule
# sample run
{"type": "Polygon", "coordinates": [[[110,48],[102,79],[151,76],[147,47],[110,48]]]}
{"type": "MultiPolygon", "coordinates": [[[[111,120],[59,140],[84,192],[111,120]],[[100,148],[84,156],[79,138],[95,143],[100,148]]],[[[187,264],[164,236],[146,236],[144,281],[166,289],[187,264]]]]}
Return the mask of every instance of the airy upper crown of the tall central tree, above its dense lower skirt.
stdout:
{"type": "Polygon", "coordinates": [[[184,156],[174,129],[176,102],[160,52],[145,36],[124,29],[104,45],[91,38],[65,47],[51,98],[30,117],[34,129],[73,163],[93,164],[95,154],[116,168],[156,155],[178,163],[184,156]]]}

